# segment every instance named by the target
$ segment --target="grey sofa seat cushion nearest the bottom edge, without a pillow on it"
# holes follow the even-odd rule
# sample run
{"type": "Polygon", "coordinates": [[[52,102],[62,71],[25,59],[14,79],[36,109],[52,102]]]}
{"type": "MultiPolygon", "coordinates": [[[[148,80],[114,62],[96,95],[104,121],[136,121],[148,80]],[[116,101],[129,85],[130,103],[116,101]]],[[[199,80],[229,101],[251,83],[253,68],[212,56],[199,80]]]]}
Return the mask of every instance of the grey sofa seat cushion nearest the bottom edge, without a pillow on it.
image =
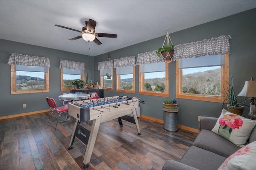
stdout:
{"type": "Polygon", "coordinates": [[[190,146],[180,162],[200,170],[216,170],[225,160],[223,156],[197,146],[190,146]]]}

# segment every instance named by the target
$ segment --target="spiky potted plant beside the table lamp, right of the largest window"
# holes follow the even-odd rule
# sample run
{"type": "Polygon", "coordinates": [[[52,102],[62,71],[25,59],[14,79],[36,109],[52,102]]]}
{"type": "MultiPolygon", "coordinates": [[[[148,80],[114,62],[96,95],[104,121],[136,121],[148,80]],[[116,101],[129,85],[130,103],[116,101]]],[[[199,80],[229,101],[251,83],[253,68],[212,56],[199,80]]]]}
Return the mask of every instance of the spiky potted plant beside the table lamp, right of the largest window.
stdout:
{"type": "Polygon", "coordinates": [[[237,97],[238,95],[236,95],[235,91],[234,91],[234,81],[233,81],[233,75],[232,75],[232,84],[230,84],[229,82],[228,83],[228,89],[225,89],[224,88],[224,93],[223,95],[227,98],[223,101],[223,104],[225,103],[225,101],[228,101],[228,104],[227,104],[227,108],[228,108],[228,111],[230,113],[234,113],[234,114],[237,114],[237,115],[240,115],[242,116],[243,114],[243,111],[244,111],[244,106],[242,106],[243,103],[247,102],[247,101],[250,101],[249,99],[244,99],[240,102],[237,101],[237,97]]]}

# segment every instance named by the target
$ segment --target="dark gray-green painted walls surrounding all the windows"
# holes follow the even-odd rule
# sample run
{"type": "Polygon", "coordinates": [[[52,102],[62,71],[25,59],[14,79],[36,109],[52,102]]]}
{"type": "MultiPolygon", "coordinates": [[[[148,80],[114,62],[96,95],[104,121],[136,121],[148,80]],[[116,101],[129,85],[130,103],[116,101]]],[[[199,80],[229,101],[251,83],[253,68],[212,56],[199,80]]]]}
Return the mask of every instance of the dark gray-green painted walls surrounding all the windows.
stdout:
{"type": "MultiPolygon", "coordinates": [[[[208,22],[193,28],[188,28],[179,32],[170,34],[174,45],[201,41],[218,37],[221,35],[230,35],[229,57],[229,75],[234,76],[234,89],[238,94],[244,82],[250,80],[250,77],[256,78],[256,8],[242,12],[233,16],[228,16],[219,20],[208,22]]],[[[145,28],[148,29],[148,28],[145,28]]],[[[143,31],[143,30],[141,30],[143,31]]],[[[169,30],[171,32],[171,30],[169,30]]],[[[163,33],[164,35],[164,33],[163,33]]],[[[131,45],[129,47],[111,51],[111,59],[135,55],[137,59],[138,53],[153,51],[162,47],[165,36],[149,40],[146,42],[131,45]]],[[[89,80],[98,80],[99,71],[98,62],[108,60],[107,54],[90,57],[76,53],[69,53],[50,48],[38,47],[24,43],[10,42],[0,40],[0,116],[14,115],[19,113],[27,113],[32,111],[40,111],[48,109],[45,97],[53,97],[58,104],[58,95],[60,91],[60,59],[68,59],[71,61],[80,61],[86,63],[86,71],[89,71],[89,80]],[[10,65],[7,64],[10,53],[21,53],[27,55],[36,55],[50,58],[50,92],[49,93],[32,93],[32,94],[10,94],[10,65]],[[91,63],[94,63],[92,65],[91,63]],[[22,104],[26,103],[27,107],[22,108],[22,104]]],[[[115,71],[115,70],[114,70],[115,71]]],[[[142,115],[163,119],[162,102],[166,97],[156,97],[138,94],[138,66],[136,66],[136,93],[117,93],[104,91],[104,96],[128,95],[139,97],[146,101],[141,105],[140,112],[142,115]]],[[[114,72],[115,75],[115,72],[114,72]]],[[[114,83],[116,80],[114,79],[114,83]]],[[[169,64],[169,98],[175,98],[175,63],[169,64]]],[[[243,97],[239,97],[243,99],[243,97]]],[[[218,117],[222,110],[222,103],[194,101],[188,99],[177,99],[180,108],[178,116],[178,124],[191,128],[198,128],[199,116],[218,117]]],[[[247,115],[248,108],[245,109],[244,115],[247,115]]]]}

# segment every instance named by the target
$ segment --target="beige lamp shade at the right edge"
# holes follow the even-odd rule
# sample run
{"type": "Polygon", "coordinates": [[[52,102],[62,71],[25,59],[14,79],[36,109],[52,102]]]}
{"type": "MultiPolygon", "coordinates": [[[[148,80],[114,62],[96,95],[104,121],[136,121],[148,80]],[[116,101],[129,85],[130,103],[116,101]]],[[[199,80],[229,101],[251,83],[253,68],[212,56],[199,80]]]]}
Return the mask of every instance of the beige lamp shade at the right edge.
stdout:
{"type": "Polygon", "coordinates": [[[256,81],[245,81],[244,88],[238,96],[256,97],[256,81]]]}

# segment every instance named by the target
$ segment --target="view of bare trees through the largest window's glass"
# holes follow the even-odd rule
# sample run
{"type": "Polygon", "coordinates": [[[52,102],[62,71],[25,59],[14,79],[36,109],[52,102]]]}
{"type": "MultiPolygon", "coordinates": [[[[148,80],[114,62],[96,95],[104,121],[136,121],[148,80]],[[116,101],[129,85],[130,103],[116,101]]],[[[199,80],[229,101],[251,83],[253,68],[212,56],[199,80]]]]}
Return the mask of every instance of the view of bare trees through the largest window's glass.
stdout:
{"type": "Polygon", "coordinates": [[[188,69],[182,69],[182,71],[182,93],[215,96],[221,95],[220,67],[218,69],[210,69],[207,71],[188,74],[184,74],[184,72],[191,72],[188,69]]]}

